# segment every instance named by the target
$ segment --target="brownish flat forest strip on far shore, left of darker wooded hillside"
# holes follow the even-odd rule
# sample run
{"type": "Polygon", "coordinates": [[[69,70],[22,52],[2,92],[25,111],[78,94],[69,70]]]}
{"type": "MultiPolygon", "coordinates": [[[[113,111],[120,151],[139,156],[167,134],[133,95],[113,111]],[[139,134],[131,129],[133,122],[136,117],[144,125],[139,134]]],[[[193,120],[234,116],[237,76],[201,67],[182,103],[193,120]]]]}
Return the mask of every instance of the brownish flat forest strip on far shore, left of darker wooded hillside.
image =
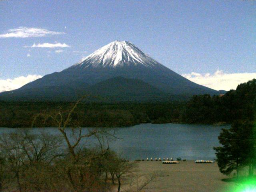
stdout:
{"type": "MultiPolygon", "coordinates": [[[[67,116],[74,103],[68,102],[1,102],[0,127],[30,127],[35,114],[55,114],[62,110],[67,116]]],[[[85,103],[72,114],[81,126],[133,126],[140,123],[180,122],[184,102],[166,103],[85,103]]],[[[35,124],[34,126],[40,126],[35,124]]],[[[54,126],[48,122],[47,126],[54,126]]]]}

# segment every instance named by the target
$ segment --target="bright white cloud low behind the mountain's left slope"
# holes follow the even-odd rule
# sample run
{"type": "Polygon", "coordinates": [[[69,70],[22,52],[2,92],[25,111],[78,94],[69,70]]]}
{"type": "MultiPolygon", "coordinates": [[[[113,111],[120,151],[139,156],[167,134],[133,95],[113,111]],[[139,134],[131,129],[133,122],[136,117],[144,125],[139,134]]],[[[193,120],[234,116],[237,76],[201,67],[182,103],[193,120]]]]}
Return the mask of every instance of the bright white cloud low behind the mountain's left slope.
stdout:
{"type": "Polygon", "coordinates": [[[13,79],[0,79],[0,92],[18,89],[23,85],[41,77],[42,76],[40,75],[28,75],[26,77],[20,76],[13,79]]]}

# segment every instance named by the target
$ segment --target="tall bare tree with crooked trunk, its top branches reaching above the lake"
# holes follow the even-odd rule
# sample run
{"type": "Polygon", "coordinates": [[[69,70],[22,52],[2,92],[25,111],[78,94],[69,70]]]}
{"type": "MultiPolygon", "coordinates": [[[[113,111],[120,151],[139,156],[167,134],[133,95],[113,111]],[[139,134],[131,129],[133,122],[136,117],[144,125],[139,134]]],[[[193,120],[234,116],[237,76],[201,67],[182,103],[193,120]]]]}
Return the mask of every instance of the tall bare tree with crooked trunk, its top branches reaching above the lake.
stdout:
{"type": "MultiPolygon", "coordinates": [[[[101,170],[99,169],[95,170],[94,173],[89,170],[90,166],[92,167],[92,165],[95,165],[94,162],[98,160],[98,154],[90,153],[90,155],[86,155],[81,141],[96,134],[102,134],[104,131],[98,129],[82,129],[81,126],[74,126],[74,123],[72,123],[72,115],[74,114],[74,111],[78,105],[84,104],[83,100],[86,97],[87,96],[83,96],[80,98],[66,116],[60,111],[54,115],[41,113],[38,114],[33,121],[34,123],[38,118],[43,118],[44,124],[48,120],[56,122],[57,128],[62,134],[68,148],[70,161],[68,160],[68,163],[66,164],[66,174],[74,191],[81,191],[85,188],[85,185],[87,185],[86,188],[89,190],[90,186],[94,185],[95,181],[98,179],[96,178],[98,177],[98,174],[101,173],[101,170]],[[68,132],[70,129],[72,132],[71,135],[68,132]],[[88,182],[88,180],[90,180],[90,182],[88,182]]],[[[101,156],[104,156],[106,151],[107,150],[102,150],[101,156]]]]}

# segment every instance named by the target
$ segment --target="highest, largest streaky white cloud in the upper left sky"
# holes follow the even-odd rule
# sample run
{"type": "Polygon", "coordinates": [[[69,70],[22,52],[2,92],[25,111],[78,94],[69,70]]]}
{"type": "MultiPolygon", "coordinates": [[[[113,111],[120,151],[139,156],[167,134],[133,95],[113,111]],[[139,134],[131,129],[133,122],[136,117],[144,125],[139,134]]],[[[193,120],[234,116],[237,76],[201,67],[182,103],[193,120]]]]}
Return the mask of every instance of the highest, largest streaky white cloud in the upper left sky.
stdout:
{"type": "Polygon", "coordinates": [[[15,29],[9,29],[6,34],[0,34],[0,38],[27,38],[27,37],[44,37],[48,35],[60,35],[64,32],[49,31],[42,28],[27,28],[19,27],[15,29]]]}

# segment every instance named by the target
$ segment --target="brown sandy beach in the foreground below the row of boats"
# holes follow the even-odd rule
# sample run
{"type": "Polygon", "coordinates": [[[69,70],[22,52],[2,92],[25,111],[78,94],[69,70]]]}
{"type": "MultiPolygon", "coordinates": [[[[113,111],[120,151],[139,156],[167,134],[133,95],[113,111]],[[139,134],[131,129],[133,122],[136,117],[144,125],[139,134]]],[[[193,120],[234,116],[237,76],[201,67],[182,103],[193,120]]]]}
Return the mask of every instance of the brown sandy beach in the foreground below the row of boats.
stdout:
{"type": "Polygon", "coordinates": [[[158,176],[143,191],[145,192],[232,192],[235,184],[223,182],[217,163],[196,164],[181,161],[180,164],[162,164],[159,161],[138,162],[136,174],[158,176]]]}

